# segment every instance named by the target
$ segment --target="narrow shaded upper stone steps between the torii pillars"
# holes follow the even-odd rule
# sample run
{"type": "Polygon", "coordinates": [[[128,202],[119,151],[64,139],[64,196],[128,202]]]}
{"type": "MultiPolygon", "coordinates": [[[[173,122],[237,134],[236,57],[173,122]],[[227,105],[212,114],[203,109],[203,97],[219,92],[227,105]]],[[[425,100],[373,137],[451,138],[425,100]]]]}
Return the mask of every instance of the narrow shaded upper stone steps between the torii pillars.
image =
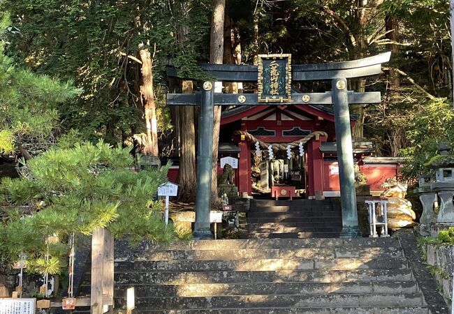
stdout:
{"type": "Polygon", "coordinates": [[[247,215],[249,239],[337,238],[342,213],[335,199],[252,200],[247,215]]]}

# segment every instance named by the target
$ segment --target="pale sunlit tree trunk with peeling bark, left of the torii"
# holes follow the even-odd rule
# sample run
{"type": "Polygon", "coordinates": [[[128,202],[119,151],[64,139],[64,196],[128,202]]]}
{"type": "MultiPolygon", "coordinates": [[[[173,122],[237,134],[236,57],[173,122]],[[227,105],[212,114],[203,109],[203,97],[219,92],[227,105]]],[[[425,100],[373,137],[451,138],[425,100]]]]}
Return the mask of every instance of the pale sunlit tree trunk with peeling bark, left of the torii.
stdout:
{"type": "Polygon", "coordinates": [[[141,49],[139,55],[140,61],[142,61],[140,96],[142,96],[145,125],[147,126],[146,140],[145,143],[142,143],[142,154],[158,156],[158,122],[156,119],[156,103],[154,101],[153,89],[153,59],[148,48],[141,49]]]}

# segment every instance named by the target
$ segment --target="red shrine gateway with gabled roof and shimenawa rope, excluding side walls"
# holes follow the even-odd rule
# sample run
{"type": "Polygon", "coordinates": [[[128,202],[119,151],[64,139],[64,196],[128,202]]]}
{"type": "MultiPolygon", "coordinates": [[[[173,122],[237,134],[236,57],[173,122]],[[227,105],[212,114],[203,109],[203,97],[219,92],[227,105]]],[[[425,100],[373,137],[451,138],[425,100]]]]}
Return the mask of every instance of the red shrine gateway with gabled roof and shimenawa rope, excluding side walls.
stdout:
{"type": "MultiPolygon", "coordinates": [[[[354,116],[350,123],[355,123],[354,116]]],[[[326,181],[339,181],[320,171],[326,167],[327,156],[322,146],[335,143],[335,137],[332,106],[256,105],[225,110],[219,142],[240,150],[240,166],[235,172],[240,195],[271,197],[272,186],[293,186],[298,197],[312,199],[327,193],[326,181]],[[247,158],[249,165],[241,163],[247,158]]]]}

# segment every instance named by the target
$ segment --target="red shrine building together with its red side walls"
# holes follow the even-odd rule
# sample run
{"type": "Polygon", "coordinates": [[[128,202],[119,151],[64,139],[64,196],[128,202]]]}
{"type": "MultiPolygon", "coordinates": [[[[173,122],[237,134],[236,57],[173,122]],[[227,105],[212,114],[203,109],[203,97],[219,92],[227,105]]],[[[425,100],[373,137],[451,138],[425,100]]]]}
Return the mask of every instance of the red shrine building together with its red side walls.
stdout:
{"type": "MultiPolygon", "coordinates": [[[[351,126],[356,123],[351,116],[351,126]]],[[[295,196],[315,198],[338,197],[339,167],[332,105],[242,105],[222,113],[219,136],[219,160],[230,156],[237,159],[233,184],[238,194],[254,196],[270,193],[273,186],[292,187],[295,196]],[[261,148],[257,156],[256,140],[284,147],[310,137],[299,147],[274,151],[270,160],[268,150],[261,148]]],[[[356,174],[367,178],[372,195],[385,188],[383,182],[395,177],[402,158],[374,157],[372,142],[353,142],[356,174]]],[[[169,171],[170,181],[177,181],[178,167],[169,171]]],[[[222,173],[219,162],[219,174],[222,173]]],[[[280,195],[286,196],[286,195],[280,195]]]]}

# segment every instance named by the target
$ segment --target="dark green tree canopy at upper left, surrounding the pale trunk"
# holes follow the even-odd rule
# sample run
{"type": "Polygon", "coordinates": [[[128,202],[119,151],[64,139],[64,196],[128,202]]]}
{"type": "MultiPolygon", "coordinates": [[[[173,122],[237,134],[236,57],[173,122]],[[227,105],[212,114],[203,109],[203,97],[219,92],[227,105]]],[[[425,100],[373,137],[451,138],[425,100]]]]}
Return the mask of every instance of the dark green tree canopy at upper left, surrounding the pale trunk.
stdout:
{"type": "MultiPolygon", "coordinates": [[[[166,119],[166,60],[176,57],[187,73],[207,56],[211,1],[1,1],[12,13],[20,34],[9,33],[8,54],[37,73],[71,78],[83,89],[75,101],[61,103],[64,128],[82,137],[115,143],[145,131],[140,100],[139,45],[154,56],[153,76],[158,117],[166,119]],[[185,45],[177,34],[187,29],[185,45]],[[156,44],[156,51],[154,45],[156,44]]],[[[168,119],[159,120],[159,136],[169,131],[168,119]]]]}

